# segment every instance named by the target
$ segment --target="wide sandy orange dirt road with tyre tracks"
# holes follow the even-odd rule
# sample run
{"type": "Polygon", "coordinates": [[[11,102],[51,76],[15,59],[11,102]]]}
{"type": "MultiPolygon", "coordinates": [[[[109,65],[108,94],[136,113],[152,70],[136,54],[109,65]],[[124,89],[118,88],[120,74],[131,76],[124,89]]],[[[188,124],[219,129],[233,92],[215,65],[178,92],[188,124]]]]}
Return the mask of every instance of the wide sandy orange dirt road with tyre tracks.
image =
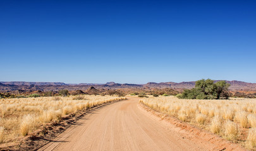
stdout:
{"type": "Polygon", "coordinates": [[[212,150],[138,106],[138,98],[109,104],[84,116],[40,150],[212,150]]]}

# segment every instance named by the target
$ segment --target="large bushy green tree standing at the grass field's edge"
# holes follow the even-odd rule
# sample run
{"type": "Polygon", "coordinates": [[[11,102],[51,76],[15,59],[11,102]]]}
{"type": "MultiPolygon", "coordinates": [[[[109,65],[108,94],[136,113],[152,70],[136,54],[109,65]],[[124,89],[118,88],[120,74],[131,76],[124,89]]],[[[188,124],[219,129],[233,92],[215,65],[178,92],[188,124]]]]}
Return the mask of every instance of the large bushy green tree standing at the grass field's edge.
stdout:
{"type": "Polygon", "coordinates": [[[228,99],[229,91],[226,81],[214,83],[211,79],[202,79],[195,82],[195,88],[185,89],[178,98],[181,99],[228,99]]]}

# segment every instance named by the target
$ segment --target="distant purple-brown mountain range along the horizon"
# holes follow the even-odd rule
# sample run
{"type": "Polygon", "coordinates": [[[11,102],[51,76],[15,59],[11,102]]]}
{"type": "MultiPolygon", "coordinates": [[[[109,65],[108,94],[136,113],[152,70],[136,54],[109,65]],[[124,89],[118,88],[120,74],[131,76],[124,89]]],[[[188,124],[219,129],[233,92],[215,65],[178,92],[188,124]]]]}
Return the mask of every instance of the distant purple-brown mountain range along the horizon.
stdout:
{"type": "MultiPolygon", "coordinates": [[[[216,81],[215,81],[216,82],[216,81]]],[[[226,81],[231,86],[231,91],[256,91],[256,83],[249,83],[243,81],[226,81]]],[[[190,82],[148,82],[147,84],[119,84],[115,82],[107,82],[106,84],[80,83],[80,84],[65,84],[64,82],[0,82],[0,91],[9,92],[16,90],[23,91],[58,91],[59,89],[68,90],[85,90],[88,87],[94,86],[97,89],[119,89],[119,88],[166,88],[173,89],[191,89],[195,87],[195,81],[190,82]]]]}

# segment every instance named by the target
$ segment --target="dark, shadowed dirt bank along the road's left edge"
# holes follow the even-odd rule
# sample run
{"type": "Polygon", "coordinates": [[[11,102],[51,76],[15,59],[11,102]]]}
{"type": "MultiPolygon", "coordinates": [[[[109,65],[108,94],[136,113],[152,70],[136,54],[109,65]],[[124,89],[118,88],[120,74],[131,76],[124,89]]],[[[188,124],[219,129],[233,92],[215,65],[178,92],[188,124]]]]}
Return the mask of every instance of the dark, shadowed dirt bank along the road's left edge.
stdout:
{"type": "MultiPolygon", "coordinates": [[[[123,101],[126,99],[120,99],[118,101],[123,101]]],[[[118,101],[103,103],[90,109],[83,109],[77,113],[66,115],[61,118],[59,123],[54,121],[47,123],[44,126],[40,126],[32,133],[28,133],[27,137],[20,137],[16,142],[1,144],[0,150],[39,150],[39,148],[44,147],[48,143],[58,141],[59,136],[63,135],[63,132],[68,128],[71,128],[72,126],[75,128],[76,121],[80,120],[83,116],[88,115],[97,109],[101,109],[108,104],[113,104],[118,101]]]]}

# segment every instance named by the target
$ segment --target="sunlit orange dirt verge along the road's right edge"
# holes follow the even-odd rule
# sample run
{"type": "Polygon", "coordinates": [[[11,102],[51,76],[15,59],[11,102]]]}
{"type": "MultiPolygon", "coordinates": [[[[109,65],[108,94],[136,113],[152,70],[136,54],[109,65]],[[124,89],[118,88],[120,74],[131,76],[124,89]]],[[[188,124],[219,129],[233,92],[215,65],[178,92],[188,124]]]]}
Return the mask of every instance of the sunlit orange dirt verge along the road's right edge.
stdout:
{"type": "Polygon", "coordinates": [[[216,146],[215,148],[212,148],[212,150],[247,150],[246,148],[243,148],[240,144],[229,142],[228,140],[225,140],[224,138],[221,138],[218,135],[210,133],[209,131],[202,130],[197,126],[190,125],[189,123],[180,121],[177,118],[155,111],[154,109],[151,109],[142,103],[138,103],[138,108],[142,109],[143,111],[146,111],[151,116],[157,117],[159,121],[166,121],[171,125],[176,126],[177,128],[179,128],[181,133],[186,133],[186,135],[188,135],[188,138],[190,138],[191,140],[195,139],[212,143],[214,146],[216,146]]]}

